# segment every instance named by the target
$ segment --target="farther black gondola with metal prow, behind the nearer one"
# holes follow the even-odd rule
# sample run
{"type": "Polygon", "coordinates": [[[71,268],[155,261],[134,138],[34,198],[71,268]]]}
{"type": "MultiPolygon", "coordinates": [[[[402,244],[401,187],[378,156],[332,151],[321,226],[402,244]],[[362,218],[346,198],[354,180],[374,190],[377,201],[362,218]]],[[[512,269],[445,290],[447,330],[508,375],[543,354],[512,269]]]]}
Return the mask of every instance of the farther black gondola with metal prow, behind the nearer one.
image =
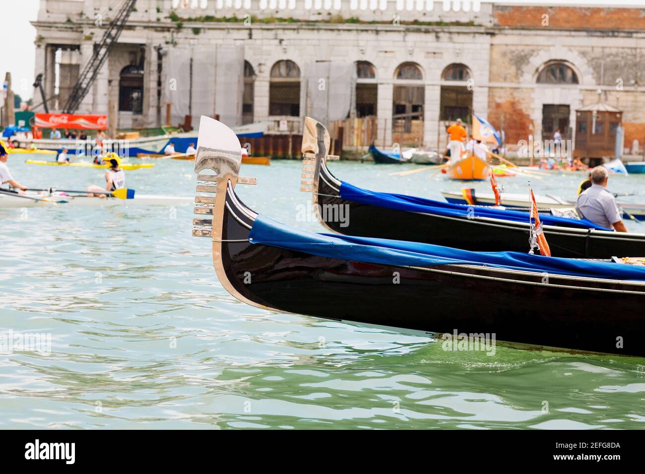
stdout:
{"type": "MultiPolygon", "coordinates": [[[[468,206],[439,201],[423,200],[426,203],[434,203],[437,209],[446,206],[462,208],[464,215],[441,215],[433,212],[432,206],[425,206],[425,212],[419,212],[343,199],[341,181],[336,179],[326,166],[328,155],[324,152],[313,153],[316,146],[321,147],[328,143],[329,134],[326,128],[307,117],[302,148],[303,177],[310,181],[304,181],[301,190],[312,192],[313,203],[318,204],[313,206],[314,210],[324,211],[317,212],[319,221],[333,232],[425,242],[481,252],[528,252],[528,213],[526,221],[511,221],[499,217],[481,217],[475,215],[476,212],[465,212],[469,209],[468,206]],[[349,219],[337,219],[337,210],[344,210],[344,215],[349,216],[349,219]]],[[[411,201],[421,200],[414,197],[404,198],[411,201]]],[[[485,206],[471,206],[470,209],[486,212],[485,206]]],[[[504,214],[502,211],[497,213],[504,214]]],[[[508,215],[511,213],[517,214],[515,211],[506,212],[508,215]]],[[[608,259],[645,256],[645,234],[581,228],[581,221],[575,219],[558,218],[557,221],[559,225],[545,224],[543,228],[553,257],[608,259]]]]}

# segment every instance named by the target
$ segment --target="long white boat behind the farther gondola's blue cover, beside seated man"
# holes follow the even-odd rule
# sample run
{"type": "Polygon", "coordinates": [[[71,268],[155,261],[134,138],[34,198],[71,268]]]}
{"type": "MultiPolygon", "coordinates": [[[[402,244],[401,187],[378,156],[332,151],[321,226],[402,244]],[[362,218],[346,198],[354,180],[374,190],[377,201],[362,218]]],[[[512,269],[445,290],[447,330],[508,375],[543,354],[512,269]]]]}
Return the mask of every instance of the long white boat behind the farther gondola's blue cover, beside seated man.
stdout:
{"type": "MultiPolygon", "coordinates": [[[[462,191],[442,191],[441,194],[451,204],[468,204],[470,206],[495,205],[495,196],[491,192],[475,193],[474,190],[470,190],[470,193],[465,193],[462,191]]],[[[566,210],[575,207],[575,201],[550,194],[536,194],[535,201],[537,202],[538,208],[545,210],[551,208],[566,210]]],[[[624,219],[631,219],[630,216],[633,216],[637,221],[645,221],[645,204],[638,204],[637,202],[617,202],[617,204],[622,209],[622,217],[624,219]]],[[[502,193],[502,206],[528,210],[529,205],[528,193],[502,193]]]]}

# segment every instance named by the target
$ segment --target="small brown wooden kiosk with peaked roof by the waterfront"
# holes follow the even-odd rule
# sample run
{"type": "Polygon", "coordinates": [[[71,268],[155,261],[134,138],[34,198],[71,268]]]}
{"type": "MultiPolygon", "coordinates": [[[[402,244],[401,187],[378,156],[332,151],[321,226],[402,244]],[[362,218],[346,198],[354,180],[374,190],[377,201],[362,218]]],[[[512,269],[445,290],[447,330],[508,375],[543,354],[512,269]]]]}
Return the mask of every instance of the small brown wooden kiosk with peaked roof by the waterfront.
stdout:
{"type": "Polygon", "coordinates": [[[598,102],[579,108],[575,114],[573,156],[590,161],[613,157],[616,131],[622,122],[622,111],[610,104],[598,102]]]}

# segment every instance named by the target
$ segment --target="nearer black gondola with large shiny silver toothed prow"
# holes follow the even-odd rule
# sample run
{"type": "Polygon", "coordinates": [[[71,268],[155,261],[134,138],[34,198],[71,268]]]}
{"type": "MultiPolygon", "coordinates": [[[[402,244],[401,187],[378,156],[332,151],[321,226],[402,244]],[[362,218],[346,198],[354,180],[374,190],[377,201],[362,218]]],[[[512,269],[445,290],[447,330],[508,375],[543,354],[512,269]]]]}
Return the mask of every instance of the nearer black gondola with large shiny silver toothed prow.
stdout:
{"type": "MultiPolygon", "coordinates": [[[[328,142],[319,144],[312,150],[317,156],[326,153],[328,142]]],[[[284,243],[290,232],[323,242],[355,238],[303,233],[285,226],[274,243],[263,243],[262,238],[253,241],[268,219],[244,206],[234,192],[235,183],[250,181],[238,177],[240,159],[235,134],[201,117],[195,172],[199,181],[208,184],[199,184],[197,191],[215,193],[215,197],[195,198],[195,213],[213,215],[213,219],[195,219],[193,234],[212,238],[219,281],[240,301],[326,319],[433,333],[495,334],[497,341],[531,346],[645,355],[640,313],[645,303],[645,269],[585,262],[605,272],[608,266],[620,266],[620,272],[630,267],[643,280],[624,281],[482,264],[392,265],[371,261],[373,257],[361,261],[293,250],[284,243]],[[203,174],[204,170],[215,174],[203,174]],[[398,275],[397,282],[393,275],[398,275]]],[[[364,246],[352,248],[359,247],[364,246]]],[[[578,262],[535,255],[530,259],[562,265],[578,262]]]]}

